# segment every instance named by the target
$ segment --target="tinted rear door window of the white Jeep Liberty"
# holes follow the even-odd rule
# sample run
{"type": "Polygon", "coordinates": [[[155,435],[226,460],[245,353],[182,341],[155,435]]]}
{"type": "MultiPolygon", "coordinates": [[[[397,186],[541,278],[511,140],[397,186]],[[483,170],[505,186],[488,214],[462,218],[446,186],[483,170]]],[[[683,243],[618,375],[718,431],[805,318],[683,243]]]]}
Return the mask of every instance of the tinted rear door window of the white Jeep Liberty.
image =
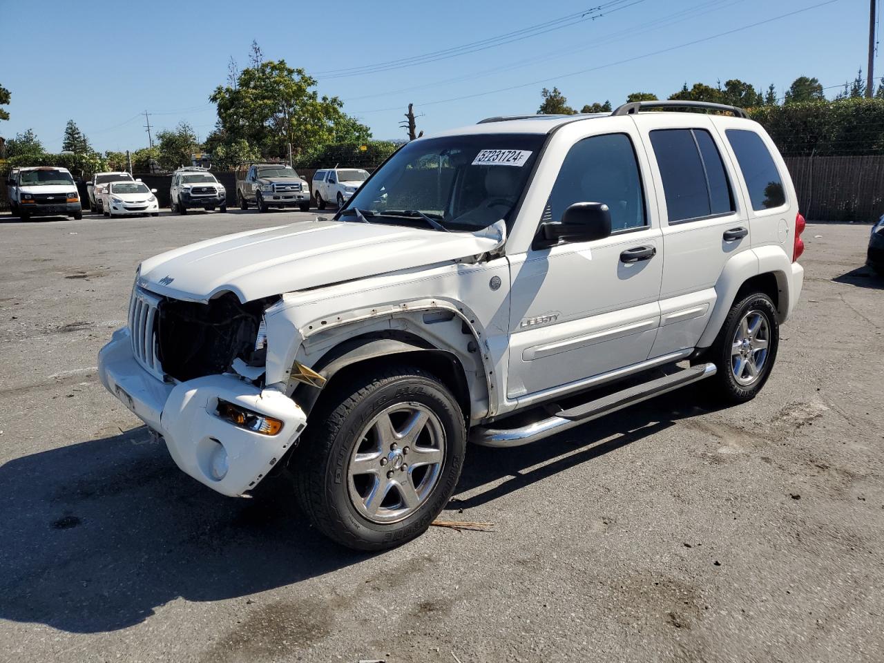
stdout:
{"type": "Polygon", "coordinates": [[[670,224],[734,211],[734,195],[712,136],[704,129],[651,132],[670,224]]]}

